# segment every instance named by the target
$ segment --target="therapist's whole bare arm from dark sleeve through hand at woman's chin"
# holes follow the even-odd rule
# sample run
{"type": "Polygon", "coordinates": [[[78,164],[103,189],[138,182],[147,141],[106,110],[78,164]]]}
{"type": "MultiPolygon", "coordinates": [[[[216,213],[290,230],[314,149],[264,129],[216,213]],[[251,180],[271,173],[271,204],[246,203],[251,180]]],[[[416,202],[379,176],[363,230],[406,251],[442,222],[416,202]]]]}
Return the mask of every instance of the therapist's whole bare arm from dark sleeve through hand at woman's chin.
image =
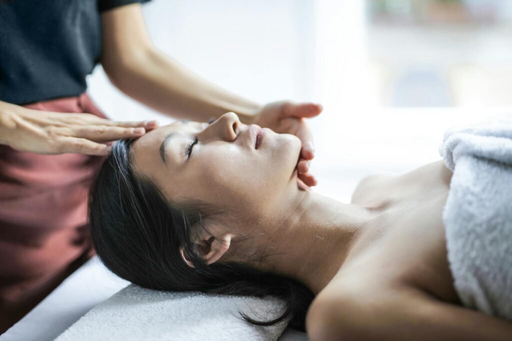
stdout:
{"type": "MultiPolygon", "coordinates": [[[[304,119],[319,115],[322,105],[291,101],[261,105],[208,82],[155,48],[144,25],[140,4],[103,12],[101,21],[101,63],[119,90],[176,118],[205,122],[231,111],[246,124],[293,134],[302,143],[296,166],[298,185],[303,189],[316,185],[315,177],[309,172],[314,157],[313,137],[304,119]]],[[[207,50],[203,54],[208,58],[207,50]]]]}

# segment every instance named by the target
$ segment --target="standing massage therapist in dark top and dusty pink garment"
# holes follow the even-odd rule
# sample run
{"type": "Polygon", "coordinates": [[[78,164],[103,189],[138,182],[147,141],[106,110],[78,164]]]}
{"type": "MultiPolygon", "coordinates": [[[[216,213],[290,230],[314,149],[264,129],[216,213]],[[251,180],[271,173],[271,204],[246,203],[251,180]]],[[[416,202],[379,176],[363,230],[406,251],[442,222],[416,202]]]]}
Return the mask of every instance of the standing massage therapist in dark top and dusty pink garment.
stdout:
{"type": "Polygon", "coordinates": [[[207,121],[232,111],[298,136],[299,185],[316,184],[304,118],[322,106],[260,105],[201,79],[152,45],[146,1],[0,0],[0,333],[94,254],[87,195],[108,142],[158,126],[113,122],[95,107],[86,76],[98,62],[117,88],[163,114],[207,121]]]}

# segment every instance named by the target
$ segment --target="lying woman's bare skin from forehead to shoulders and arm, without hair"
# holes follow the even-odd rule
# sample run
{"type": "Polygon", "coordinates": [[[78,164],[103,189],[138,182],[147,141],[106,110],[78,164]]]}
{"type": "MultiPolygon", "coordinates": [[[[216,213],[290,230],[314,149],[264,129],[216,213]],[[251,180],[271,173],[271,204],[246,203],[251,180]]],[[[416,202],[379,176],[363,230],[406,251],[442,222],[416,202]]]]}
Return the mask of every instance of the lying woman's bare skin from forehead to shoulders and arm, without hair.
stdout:
{"type": "Polygon", "coordinates": [[[306,317],[313,341],[510,339],[512,324],[457,303],[440,219],[449,181],[442,161],[385,185],[366,181],[345,204],[297,185],[296,137],[267,131],[255,150],[249,129],[228,113],[209,126],[161,127],[133,145],[137,175],[169,201],[226,212],[206,219],[195,240],[208,264],[246,261],[302,282],[316,295],[306,317]],[[160,144],[176,131],[163,164],[160,144]],[[268,257],[247,260],[251,249],[268,257]]]}

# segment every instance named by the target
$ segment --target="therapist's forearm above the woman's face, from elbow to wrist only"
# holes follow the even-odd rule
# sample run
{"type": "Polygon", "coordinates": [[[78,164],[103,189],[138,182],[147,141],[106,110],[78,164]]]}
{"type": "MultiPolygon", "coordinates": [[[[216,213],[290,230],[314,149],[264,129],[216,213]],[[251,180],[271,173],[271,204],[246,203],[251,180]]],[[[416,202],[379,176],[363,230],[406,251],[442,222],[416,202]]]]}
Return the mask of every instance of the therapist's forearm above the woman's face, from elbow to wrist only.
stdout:
{"type": "Polygon", "coordinates": [[[173,117],[207,121],[232,111],[251,123],[261,109],[260,104],[219,88],[156,49],[116,70],[118,74],[110,72],[109,77],[117,88],[173,117]]]}

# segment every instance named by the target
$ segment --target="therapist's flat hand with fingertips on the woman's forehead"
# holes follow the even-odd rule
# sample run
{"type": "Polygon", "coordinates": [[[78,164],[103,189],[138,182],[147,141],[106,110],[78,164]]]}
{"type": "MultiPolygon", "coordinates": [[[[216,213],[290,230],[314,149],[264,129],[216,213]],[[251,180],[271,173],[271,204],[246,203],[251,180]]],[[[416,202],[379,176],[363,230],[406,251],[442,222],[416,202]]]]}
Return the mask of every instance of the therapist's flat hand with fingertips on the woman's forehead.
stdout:
{"type": "MultiPolygon", "coordinates": [[[[14,108],[14,106],[12,106],[14,108]]],[[[156,121],[116,122],[92,114],[20,108],[2,113],[0,143],[20,152],[108,155],[109,141],[136,138],[158,127],[156,121]]]]}

